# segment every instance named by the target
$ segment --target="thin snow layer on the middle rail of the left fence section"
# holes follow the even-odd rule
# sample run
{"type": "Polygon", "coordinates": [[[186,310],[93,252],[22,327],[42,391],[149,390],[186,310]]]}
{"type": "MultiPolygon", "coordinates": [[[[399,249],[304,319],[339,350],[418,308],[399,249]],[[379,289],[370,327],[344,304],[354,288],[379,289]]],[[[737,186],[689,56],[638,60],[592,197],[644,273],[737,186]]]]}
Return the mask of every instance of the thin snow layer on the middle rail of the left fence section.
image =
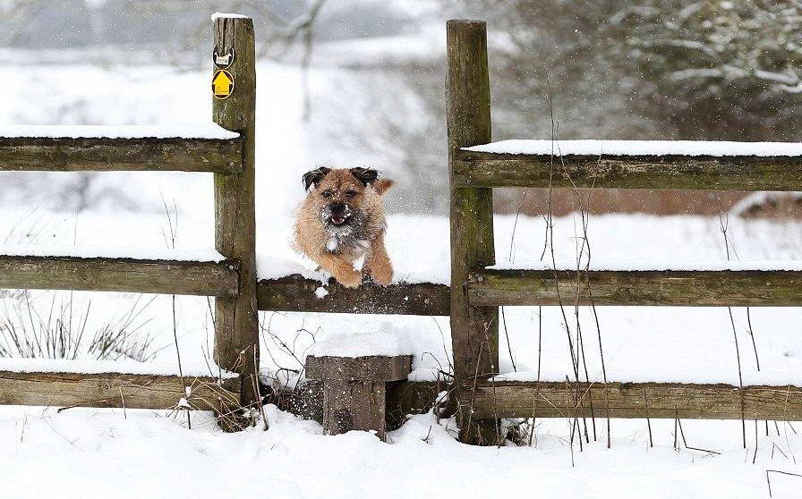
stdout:
{"type": "Polygon", "coordinates": [[[38,244],[0,245],[4,257],[132,258],[219,263],[226,258],[217,250],[170,250],[97,246],[46,246],[38,244]]]}

